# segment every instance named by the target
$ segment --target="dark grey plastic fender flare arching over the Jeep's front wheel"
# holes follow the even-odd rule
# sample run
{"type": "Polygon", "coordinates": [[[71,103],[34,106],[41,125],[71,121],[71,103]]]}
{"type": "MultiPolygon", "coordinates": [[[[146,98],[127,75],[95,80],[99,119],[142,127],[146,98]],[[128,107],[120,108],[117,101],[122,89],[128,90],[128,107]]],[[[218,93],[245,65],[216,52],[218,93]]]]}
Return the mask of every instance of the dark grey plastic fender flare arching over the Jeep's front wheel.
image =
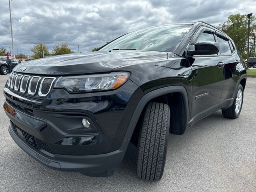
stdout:
{"type": "Polygon", "coordinates": [[[153,90],[147,94],[145,94],[139,101],[136,109],[134,110],[134,113],[132,115],[132,118],[130,120],[130,123],[128,125],[128,128],[126,130],[126,133],[124,135],[123,140],[128,140],[132,137],[133,131],[135,129],[135,126],[138,122],[138,119],[140,117],[140,114],[142,113],[142,110],[146,106],[146,104],[158,97],[169,93],[178,92],[182,94],[183,100],[185,102],[185,111],[186,111],[186,128],[188,128],[188,119],[189,119],[189,105],[188,105],[188,94],[186,89],[183,86],[168,86],[164,88],[160,88],[157,90],[153,90]]]}

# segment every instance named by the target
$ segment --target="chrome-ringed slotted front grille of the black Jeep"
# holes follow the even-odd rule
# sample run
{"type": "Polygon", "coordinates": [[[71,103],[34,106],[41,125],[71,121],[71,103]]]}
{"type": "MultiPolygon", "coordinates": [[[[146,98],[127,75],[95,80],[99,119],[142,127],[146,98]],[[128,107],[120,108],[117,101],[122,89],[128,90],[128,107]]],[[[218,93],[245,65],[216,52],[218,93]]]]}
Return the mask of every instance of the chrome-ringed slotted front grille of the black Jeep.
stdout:
{"type": "Polygon", "coordinates": [[[12,72],[8,79],[7,86],[21,93],[28,93],[31,96],[38,95],[40,97],[46,97],[52,88],[55,77],[42,77],[23,75],[12,72]]]}

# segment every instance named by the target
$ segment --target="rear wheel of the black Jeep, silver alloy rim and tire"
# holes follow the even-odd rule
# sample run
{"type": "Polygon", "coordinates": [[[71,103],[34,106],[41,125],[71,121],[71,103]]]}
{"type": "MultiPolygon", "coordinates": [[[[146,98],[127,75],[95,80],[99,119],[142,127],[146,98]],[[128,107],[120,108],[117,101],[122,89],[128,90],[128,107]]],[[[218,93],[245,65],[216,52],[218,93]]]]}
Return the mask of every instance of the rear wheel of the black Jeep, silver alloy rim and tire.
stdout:
{"type": "Polygon", "coordinates": [[[239,84],[238,90],[236,92],[236,97],[235,97],[235,100],[234,100],[232,106],[225,110],[222,109],[222,115],[224,117],[230,118],[230,119],[238,118],[238,116],[240,115],[240,112],[242,110],[243,100],[244,100],[244,89],[243,89],[243,86],[241,84],[239,84]],[[240,98],[240,96],[241,96],[241,98],[240,98]],[[240,108],[239,108],[238,100],[241,100],[240,108]],[[236,107],[238,107],[239,110],[236,107]]]}

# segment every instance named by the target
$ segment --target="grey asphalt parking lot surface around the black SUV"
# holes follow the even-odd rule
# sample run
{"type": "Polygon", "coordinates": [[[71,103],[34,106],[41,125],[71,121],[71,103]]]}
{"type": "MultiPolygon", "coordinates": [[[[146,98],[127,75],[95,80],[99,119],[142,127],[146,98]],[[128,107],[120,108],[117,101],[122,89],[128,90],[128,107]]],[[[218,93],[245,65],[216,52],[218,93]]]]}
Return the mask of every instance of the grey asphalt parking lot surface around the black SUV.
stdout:
{"type": "MultiPolygon", "coordinates": [[[[2,90],[8,75],[0,75],[2,90]]],[[[0,94],[0,103],[4,96],[0,94]]],[[[248,78],[240,117],[221,111],[197,122],[182,136],[170,135],[162,180],[137,178],[130,144],[122,164],[109,178],[51,170],[20,149],[10,137],[9,120],[0,110],[0,191],[2,192],[255,192],[256,78],[248,78]]]]}

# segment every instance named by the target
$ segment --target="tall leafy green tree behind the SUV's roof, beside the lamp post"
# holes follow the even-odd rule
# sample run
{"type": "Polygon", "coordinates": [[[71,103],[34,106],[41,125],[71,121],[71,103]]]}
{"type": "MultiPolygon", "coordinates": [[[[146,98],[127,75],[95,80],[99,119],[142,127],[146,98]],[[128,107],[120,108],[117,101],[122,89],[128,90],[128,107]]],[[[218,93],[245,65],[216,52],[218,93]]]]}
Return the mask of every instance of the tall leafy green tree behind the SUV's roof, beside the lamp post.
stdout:
{"type": "MultiPolygon", "coordinates": [[[[255,20],[254,16],[250,17],[251,22],[253,23],[255,20]]],[[[220,23],[218,28],[225,32],[232,40],[234,40],[236,44],[236,48],[238,52],[246,58],[246,42],[247,42],[247,27],[248,27],[248,19],[246,15],[241,14],[233,14],[228,16],[228,20],[226,22],[220,23]]]]}

